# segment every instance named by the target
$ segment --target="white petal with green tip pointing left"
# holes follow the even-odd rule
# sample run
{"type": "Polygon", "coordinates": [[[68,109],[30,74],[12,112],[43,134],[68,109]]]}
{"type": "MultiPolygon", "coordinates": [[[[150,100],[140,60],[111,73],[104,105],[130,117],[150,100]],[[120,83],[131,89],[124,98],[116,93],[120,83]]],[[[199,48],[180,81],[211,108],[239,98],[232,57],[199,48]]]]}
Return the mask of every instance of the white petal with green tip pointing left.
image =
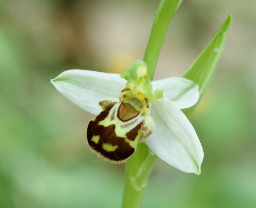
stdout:
{"type": "Polygon", "coordinates": [[[119,74],[71,69],[51,80],[56,89],[80,108],[97,115],[101,108],[99,100],[118,98],[125,88],[126,80],[119,74]]]}

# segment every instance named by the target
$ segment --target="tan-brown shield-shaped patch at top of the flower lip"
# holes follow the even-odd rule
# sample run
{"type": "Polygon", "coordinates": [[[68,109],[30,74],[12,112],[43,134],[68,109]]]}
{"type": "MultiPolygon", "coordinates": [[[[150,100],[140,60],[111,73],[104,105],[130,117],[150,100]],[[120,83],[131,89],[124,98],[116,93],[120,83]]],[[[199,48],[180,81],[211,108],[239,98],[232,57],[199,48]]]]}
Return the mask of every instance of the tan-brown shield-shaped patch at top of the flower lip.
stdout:
{"type": "Polygon", "coordinates": [[[128,121],[139,115],[139,113],[130,104],[122,102],[118,108],[117,116],[121,121],[128,121]]]}

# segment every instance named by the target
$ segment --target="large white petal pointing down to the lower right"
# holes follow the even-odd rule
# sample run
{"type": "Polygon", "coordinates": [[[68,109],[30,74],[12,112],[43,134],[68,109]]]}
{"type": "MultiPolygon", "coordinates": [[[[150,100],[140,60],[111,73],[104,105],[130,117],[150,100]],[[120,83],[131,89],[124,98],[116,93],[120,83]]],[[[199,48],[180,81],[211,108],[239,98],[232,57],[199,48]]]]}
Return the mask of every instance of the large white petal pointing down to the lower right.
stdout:
{"type": "Polygon", "coordinates": [[[199,175],[204,152],[188,118],[166,98],[153,102],[150,115],[155,129],[145,141],[148,147],[173,167],[199,175]]]}

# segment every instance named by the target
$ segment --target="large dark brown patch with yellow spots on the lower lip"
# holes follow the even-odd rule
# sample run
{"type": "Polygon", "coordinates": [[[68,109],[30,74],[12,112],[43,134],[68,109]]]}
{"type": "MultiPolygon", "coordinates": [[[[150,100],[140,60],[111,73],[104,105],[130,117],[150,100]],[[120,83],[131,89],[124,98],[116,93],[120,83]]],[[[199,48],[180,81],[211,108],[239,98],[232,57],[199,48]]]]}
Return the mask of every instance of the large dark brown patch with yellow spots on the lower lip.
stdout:
{"type": "Polygon", "coordinates": [[[113,107],[109,106],[105,111],[102,111],[94,121],[90,121],[87,128],[87,140],[92,149],[102,156],[113,160],[113,161],[122,161],[126,158],[130,157],[135,149],[130,146],[129,143],[125,142],[125,138],[117,137],[115,133],[115,125],[112,124],[110,126],[102,126],[98,125],[98,123],[104,120],[109,113],[109,110],[113,107]],[[99,135],[99,142],[96,144],[91,141],[92,136],[99,135]],[[117,149],[112,152],[105,151],[102,149],[102,143],[109,143],[112,146],[118,145],[117,149]]]}

